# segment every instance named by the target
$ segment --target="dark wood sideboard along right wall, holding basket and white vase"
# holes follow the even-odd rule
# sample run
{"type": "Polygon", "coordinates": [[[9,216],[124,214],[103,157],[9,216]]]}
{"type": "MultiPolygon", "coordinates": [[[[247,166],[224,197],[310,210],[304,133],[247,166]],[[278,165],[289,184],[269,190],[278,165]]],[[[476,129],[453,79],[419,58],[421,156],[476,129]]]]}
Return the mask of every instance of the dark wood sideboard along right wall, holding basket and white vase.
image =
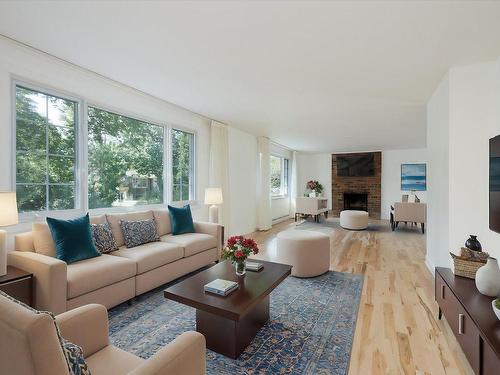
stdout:
{"type": "Polygon", "coordinates": [[[500,374],[500,320],[491,301],[479,293],[474,280],[436,268],[435,296],[465,356],[477,375],[500,374]]]}

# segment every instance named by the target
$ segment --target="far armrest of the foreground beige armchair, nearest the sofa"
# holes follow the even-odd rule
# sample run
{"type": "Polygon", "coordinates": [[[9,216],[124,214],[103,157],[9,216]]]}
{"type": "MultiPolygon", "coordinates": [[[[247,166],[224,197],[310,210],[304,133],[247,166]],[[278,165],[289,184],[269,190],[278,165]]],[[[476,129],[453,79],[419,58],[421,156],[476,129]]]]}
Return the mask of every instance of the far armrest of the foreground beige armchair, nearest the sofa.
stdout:
{"type": "Polygon", "coordinates": [[[86,358],[109,345],[108,311],[90,304],[56,316],[61,336],[83,349],[86,358]]]}

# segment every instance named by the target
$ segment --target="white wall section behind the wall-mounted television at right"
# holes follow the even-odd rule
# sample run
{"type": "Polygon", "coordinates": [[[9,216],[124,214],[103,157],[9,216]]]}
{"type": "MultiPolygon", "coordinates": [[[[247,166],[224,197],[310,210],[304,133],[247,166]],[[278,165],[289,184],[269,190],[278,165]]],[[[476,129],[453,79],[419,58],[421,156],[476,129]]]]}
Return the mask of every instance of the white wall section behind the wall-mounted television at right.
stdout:
{"type": "Polygon", "coordinates": [[[450,248],[477,234],[500,256],[500,234],[489,229],[489,139],[500,134],[500,59],[450,70],[450,248]]]}

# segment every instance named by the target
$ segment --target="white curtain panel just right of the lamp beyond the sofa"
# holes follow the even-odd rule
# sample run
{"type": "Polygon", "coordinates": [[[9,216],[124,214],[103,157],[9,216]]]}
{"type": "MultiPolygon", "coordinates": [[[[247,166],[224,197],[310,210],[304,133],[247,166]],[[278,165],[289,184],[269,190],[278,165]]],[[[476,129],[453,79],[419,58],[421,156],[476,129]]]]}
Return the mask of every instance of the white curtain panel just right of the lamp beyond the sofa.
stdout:
{"type": "Polygon", "coordinates": [[[227,125],[217,121],[210,124],[210,187],[222,189],[223,204],[219,207],[219,223],[230,233],[229,202],[229,131],[227,125]]]}

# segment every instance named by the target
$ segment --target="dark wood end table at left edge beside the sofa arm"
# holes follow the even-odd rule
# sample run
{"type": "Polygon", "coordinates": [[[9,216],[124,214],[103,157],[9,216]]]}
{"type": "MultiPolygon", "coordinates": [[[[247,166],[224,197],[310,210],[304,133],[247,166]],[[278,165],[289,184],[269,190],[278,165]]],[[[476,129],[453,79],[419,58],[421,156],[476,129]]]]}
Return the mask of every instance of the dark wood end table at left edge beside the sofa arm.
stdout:
{"type": "Polygon", "coordinates": [[[33,306],[33,274],[7,266],[7,274],[0,276],[0,290],[29,306],[33,306]]]}

